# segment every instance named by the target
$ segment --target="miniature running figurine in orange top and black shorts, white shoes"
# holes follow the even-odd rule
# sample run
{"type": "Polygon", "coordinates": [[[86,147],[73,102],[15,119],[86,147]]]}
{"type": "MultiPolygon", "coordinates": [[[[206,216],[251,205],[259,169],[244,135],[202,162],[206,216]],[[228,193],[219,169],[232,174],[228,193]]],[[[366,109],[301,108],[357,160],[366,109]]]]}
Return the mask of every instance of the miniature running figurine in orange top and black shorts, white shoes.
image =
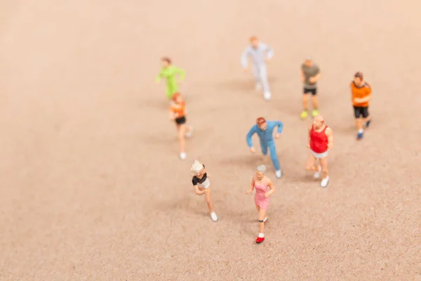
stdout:
{"type": "Polygon", "coordinates": [[[182,100],[180,93],[174,93],[170,105],[170,120],[175,121],[177,126],[178,138],[180,139],[180,159],[186,159],[186,140],[185,137],[191,137],[193,127],[186,124],[186,105],[182,100]]]}

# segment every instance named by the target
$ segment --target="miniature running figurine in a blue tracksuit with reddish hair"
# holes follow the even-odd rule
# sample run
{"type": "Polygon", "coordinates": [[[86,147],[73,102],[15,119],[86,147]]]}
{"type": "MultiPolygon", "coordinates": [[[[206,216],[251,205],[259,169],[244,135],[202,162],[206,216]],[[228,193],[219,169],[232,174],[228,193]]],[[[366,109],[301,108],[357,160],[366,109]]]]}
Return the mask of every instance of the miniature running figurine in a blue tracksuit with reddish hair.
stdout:
{"type": "Polygon", "coordinates": [[[251,137],[255,133],[258,134],[262,154],[267,155],[267,148],[269,148],[270,157],[275,168],[276,178],[281,178],[281,165],[279,164],[278,155],[276,155],[276,147],[273,136],[273,131],[276,126],[278,127],[278,131],[276,131],[275,138],[279,138],[282,133],[283,123],[281,121],[266,121],[265,118],[259,117],[256,119],[256,124],[251,127],[250,131],[248,131],[246,141],[248,148],[250,148],[250,152],[255,153],[256,150],[253,148],[253,141],[251,140],[251,137]]]}

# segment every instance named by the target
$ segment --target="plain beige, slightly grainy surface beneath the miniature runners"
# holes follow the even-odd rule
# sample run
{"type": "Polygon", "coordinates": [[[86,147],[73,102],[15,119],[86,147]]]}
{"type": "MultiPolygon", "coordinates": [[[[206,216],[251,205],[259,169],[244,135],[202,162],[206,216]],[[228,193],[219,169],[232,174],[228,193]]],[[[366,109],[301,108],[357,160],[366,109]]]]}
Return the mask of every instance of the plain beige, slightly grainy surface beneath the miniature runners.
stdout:
{"type": "Polygon", "coordinates": [[[1,281],[420,280],[419,1],[141,2],[1,1],[1,281]],[[270,103],[240,69],[250,34],[275,50],[270,103]],[[186,70],[185,162],[154,84],[161,55],[186,70]],[[326,189],[304,170],[306,55],[335,133],[326,189]],[[374,96],[358,143],[356,70],[374,96]],[[245,195],[259,115],[285,123],[263,244],[245,195]],[[194,158],[218,223],[193,193],[194,158]]]}

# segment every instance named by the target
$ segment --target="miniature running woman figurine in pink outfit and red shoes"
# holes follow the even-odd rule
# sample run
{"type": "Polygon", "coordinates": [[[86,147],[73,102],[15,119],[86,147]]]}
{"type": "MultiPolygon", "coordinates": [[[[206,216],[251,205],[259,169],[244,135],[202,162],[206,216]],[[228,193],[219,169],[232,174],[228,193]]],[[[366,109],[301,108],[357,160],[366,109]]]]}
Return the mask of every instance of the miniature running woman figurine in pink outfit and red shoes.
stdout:
{"type": "Polygon", "coordinates": [[[258,169],[256,169],[256,174],[251,179],[250,189],[247,190],[246,194],[249,195],[253,192],[253,189],[256,190],[255,192],[255,204],[256,209],[259,212],[259,235],[256,239],[256,243],[261,243],[265,241],[265,223],[267,221],[267,208],[269,207],[269,196],[274,194],[275,192],[275,185],[272,183],[270,178],[266,175],[266,166],[260,165],[258,169]],[[268,188],[270,190],[268,190],[268,188]]]}

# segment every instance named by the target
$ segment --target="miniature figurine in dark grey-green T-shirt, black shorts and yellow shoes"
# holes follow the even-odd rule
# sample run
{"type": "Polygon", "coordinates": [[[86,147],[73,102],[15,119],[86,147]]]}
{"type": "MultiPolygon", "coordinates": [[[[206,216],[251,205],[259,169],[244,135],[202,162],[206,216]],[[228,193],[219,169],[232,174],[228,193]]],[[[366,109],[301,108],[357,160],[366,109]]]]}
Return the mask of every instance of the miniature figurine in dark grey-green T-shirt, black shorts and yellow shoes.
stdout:
{"type": "Polygon", "coordinates": [[[304,83],[304,94],[302,96],[301,119],[309,116],[309,93],[312,93],[313,111],[312,117],[319,115],[319,103],[317,103],[317,81],[321,77],[320,68],[316,65],[312,58],[306,58],[301,65],[301,81],[304,83]]]}

